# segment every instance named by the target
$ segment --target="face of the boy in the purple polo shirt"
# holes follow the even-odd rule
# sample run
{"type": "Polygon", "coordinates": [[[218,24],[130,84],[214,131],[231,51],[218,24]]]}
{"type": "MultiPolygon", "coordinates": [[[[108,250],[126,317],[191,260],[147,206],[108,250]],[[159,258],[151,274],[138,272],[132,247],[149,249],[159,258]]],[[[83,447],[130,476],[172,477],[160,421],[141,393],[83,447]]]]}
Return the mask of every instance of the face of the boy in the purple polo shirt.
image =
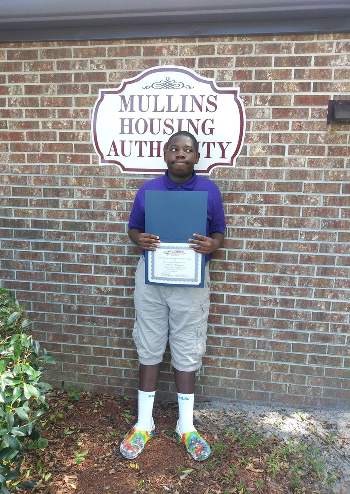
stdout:
{"type": "Polygon", "coordinates": [[[191,137],[175,136],[164,151],[169,178],[175,183],[186,182],[192,177],[194,165],[198,163],[199,158],[200,154],[195,152],[191,137]]]}

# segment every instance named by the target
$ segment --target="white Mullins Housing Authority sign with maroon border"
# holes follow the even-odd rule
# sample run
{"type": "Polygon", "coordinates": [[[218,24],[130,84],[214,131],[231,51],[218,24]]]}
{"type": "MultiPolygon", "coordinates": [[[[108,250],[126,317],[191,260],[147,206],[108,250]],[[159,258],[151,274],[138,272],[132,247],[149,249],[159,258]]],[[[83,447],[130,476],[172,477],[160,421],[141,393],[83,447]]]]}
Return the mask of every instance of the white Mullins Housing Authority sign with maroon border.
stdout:
{"type": "Polygon", "coordinates": [[[118,89],[99,90],[92,141],[100,164],[118,165],[123,173],[162,174],[166,143],[180,130],[198,140],[198,175],[235,166],[245,134],[239,88],[219,88],[214,79],[169,65],[145,70],[118,89]]]}

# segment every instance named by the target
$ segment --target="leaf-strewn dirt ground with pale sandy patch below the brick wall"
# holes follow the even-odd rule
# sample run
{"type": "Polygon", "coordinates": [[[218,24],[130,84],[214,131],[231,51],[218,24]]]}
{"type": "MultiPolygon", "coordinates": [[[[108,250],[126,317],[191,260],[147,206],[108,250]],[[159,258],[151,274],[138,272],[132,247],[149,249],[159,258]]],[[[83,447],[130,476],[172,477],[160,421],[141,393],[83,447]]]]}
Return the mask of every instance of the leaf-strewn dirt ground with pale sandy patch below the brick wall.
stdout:
{"type": "Polygon", "coordinates": [[[156,402],[156,434],[127,461],[119,445],[136,400],[71,391],[49,402],[48,445],[26,452],[20,481],[37,482],[26,493],[350,494],[349,412],[198,404],[194,424],[212,449],[198,463],[174,439],[177,404],[156,402]]]}

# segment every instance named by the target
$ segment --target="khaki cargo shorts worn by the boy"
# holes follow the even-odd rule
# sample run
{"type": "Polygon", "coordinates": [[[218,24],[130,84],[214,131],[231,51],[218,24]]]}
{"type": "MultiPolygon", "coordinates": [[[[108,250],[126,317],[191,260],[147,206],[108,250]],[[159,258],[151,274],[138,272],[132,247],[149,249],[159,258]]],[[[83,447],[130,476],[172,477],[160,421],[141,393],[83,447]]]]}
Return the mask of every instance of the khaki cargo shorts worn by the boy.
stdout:
{"type": "Polygon", "coordinates": [[[169,340],[171,365],[193,372],[202,364],[209,315],[209,263],[204,288],[163,287],[145,283],[141,256],[135,273],[135,325],[132,333],[139,361],[159,364],[169,340]]]}

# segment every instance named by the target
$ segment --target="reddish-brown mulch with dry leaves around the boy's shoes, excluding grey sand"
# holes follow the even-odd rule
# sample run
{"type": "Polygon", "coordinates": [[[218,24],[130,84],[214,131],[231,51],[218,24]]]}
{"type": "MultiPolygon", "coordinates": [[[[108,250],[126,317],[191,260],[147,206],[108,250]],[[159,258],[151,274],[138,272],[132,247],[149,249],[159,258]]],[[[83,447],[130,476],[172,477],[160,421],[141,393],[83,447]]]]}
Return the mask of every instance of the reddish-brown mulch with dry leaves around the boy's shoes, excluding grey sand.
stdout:
{"type": "MultiPolygon", "coordinates": [[[[226,430],[213,431],[201,423],[198,431],[211,445],[212,454],[206,462],[195,462],[174,439],[178,410],[173,403],[155,403],[156,434],[136,460],[127,461],[120,455],[119,445],[136,421],[136,400],[86,392],[76,393],[75,397],[78,400],[73,392],[56,392],[48,398],[51,410],[40,417],[39,423],[48,446],[41,452],[26,451],[20,480],[38,484],[26,493],[321,492],[313,491],[312,477],[304,479],[306,487],[299,491],[291,486],[287,468],[281,468],[275,476],[268,472],[268,458],[281,446],[276,438],[249,448],[226,430]]],[[[239,431],[243,424],[232,426],[239,431]]]]}

